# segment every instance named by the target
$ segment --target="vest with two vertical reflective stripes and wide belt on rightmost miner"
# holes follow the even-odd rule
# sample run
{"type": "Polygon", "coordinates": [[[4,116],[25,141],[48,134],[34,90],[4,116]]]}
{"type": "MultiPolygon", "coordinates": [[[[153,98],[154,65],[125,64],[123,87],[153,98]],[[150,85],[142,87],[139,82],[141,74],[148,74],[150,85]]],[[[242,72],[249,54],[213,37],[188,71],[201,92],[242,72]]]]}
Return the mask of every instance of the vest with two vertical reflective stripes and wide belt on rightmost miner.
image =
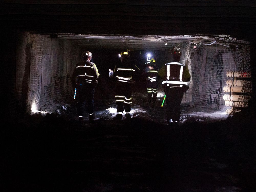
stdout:
{"type": "Polygon", "coordinates": [[[178,62],[170,62],[165,64],[165,81],[162,85],[167,87],[183,87],[187,86],[187,81],[190,79],[188,69],[185,65],[178,62]]]}

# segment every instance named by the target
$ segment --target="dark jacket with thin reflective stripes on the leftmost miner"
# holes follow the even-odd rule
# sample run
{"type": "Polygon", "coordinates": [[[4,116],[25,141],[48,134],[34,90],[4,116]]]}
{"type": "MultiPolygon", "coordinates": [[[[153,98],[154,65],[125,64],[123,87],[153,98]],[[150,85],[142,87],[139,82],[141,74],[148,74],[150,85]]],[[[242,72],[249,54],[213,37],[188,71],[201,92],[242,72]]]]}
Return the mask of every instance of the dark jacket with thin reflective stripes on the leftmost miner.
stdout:
{"type": "Polygon", "coordinates": [[[86,61],[76,67],[76,83],[79,85],[94,84],[99,75],[98,69],[93,62],[86,61]]]}

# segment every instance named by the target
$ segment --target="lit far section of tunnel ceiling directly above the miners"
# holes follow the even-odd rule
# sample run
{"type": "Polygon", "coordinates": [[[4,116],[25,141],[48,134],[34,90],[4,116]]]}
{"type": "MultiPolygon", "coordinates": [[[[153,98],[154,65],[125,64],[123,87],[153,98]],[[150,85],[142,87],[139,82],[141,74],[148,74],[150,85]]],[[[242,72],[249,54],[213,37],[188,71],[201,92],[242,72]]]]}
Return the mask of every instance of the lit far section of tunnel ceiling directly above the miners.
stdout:
{"type": "Polygon", "coordinates": [[[84,34],[40,34],[48,38],[67,39],[74,44],[91,48],[108,49],[157,49],[165,50],[178,46],[183,42],[211,42],[216,38],[221,39],[225,35],[211,36],[153,36],[153,35],[84,35],[84,34]]]}

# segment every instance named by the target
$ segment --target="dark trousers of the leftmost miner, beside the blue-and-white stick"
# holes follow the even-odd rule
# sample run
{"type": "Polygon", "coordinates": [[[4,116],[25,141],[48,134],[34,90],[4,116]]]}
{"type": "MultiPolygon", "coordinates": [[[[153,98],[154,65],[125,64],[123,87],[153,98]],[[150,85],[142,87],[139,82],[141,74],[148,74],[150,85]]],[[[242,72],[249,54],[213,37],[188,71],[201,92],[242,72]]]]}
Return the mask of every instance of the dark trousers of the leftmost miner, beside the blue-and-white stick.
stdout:
{"type": "Polygon", "coordinates": [[[79,116],[83,116],[84,107],[87,102],[88,105],[88,113],[93,114],[94,111],[94,87],[90,85],[83,85],[77,88],[76,92],[76,106],[77,112],[79,116]]]}

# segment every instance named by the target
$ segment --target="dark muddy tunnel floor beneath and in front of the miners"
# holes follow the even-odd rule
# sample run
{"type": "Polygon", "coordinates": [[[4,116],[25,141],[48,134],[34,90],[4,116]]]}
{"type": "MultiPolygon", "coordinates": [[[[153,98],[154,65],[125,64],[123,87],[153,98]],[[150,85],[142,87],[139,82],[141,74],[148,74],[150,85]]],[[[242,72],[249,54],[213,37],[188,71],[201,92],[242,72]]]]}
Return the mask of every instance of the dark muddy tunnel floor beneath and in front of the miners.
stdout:
{"type": "Polygon", "coordinates": [[[169,127],[164,93],[149,108],[135,91],[132,119],[114,121],[113,94],[97,94],[95,123],[80,124],[66,101],[2,121],[1,191],[256,191],[251,114],[185,103],[180,125],[169,127]]]}

